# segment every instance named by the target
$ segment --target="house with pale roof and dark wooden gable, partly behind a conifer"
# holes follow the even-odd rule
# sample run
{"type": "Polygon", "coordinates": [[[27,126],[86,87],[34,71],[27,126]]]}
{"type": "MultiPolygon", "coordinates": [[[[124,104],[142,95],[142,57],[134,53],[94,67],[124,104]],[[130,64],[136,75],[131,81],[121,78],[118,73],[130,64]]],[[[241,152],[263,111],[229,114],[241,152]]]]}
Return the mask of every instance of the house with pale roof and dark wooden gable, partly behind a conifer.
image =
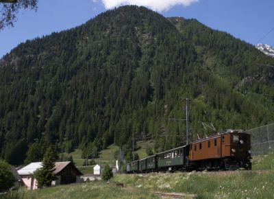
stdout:
{"type": "MultiPolygon", "coordinates": [[[[41,167],[41,162],[30,163],[17,171],[22,178],[22,184],[27,186],[27,189],[37,189],[37,180],[33,174],[41,167]]],[[[57,180],[51,183],[53,186],[80,183],[80,176],[83,175],[70,161],[56,162],[53,174],[57,177],[57,180]]]]}

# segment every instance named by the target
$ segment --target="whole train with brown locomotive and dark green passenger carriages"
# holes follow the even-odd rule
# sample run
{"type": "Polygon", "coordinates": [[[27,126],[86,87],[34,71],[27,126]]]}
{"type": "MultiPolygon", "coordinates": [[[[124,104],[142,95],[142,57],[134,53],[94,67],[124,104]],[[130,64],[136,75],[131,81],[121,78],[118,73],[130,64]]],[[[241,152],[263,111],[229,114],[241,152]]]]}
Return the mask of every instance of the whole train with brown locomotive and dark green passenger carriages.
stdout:
{"type": "Polygon", "coordinates": [[[127,173],[251,169],[251,136],[224,130],[188,145],[132,161],[127,173]]]}

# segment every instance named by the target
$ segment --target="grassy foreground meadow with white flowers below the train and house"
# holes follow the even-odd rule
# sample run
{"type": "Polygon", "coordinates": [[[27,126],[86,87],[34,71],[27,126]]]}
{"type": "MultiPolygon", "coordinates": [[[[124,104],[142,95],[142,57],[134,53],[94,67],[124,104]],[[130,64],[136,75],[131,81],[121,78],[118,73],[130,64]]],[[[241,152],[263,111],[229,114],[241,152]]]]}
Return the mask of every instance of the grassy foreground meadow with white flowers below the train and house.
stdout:
{"type": "Polygon", "coordinates": [[[8,199],[157,198],[151,194],[154,191],[197,194],[197,198],[274,198],[273,165],[274,154],[267,154],[253,157],[251,171],[117,174],[110,184],[95,181],[36,191],[21,189],[8,199]]]}

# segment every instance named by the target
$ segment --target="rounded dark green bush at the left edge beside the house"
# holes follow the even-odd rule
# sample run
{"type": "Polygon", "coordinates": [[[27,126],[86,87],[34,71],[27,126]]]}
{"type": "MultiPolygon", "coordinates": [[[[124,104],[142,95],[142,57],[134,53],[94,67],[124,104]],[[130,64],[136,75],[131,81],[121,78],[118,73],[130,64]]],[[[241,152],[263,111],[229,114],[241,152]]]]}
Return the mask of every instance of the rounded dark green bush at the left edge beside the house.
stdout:
{"type": "Polygon", "coordinates": [[[0,160],[0,192],[10,189],[15,182],[10,165],[0,160]]]}

